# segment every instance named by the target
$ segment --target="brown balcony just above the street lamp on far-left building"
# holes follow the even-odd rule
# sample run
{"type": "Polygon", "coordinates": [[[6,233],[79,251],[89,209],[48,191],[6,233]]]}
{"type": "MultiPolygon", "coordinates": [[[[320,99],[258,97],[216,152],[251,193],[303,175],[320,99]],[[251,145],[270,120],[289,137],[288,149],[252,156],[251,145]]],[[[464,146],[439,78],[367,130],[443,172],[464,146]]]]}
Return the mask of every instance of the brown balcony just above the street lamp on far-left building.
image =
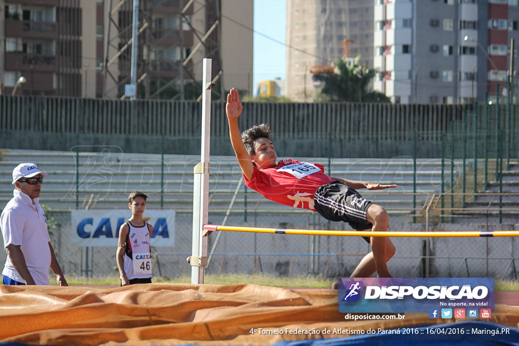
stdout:
{"type": "Polygon", "coordinates": [[[5,53],[7,71],[57,72],[56,56],[45,54],[26,54],[22,52],[5,53]]]}

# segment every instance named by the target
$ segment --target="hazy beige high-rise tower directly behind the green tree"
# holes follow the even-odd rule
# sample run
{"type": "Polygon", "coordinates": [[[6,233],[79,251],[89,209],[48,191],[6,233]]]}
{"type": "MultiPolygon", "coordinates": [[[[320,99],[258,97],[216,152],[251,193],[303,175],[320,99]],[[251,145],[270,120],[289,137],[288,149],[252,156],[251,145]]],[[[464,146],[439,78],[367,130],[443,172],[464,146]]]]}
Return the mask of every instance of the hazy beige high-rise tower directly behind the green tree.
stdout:
{"type": "Polygon", "coordinates": [[[339,57],[373,65],[373,0],[286,0],[286,92],[311,101],[321,85],[312,71],[339,57]]]}

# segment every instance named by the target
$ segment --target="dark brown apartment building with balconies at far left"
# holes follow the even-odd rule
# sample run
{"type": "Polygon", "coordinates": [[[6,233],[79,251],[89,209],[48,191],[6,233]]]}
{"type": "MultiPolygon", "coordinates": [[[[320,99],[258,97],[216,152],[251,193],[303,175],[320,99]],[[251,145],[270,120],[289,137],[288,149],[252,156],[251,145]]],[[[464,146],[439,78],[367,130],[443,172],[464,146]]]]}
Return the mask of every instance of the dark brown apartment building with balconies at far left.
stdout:
{"type": "Polygon", "coordinates": [[[3,91],[81,95],[79,0],[0,0],[0,9],[4,11],[0,16],[3,91]]]}

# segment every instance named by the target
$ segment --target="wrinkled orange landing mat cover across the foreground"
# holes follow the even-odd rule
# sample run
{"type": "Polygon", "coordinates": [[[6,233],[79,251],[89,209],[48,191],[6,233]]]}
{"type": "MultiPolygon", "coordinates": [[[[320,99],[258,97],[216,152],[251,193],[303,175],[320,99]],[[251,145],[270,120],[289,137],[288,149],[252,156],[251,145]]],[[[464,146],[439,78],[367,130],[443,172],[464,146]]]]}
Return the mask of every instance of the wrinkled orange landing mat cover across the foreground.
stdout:
{"type": "MultiPolygon", "coordinates": [[[[0,285],[0,344],[269,345],[348,336],[310,333],[323,329],[392,329],[467,321],[430,319],[426,313],[367,321],[345,320],[345,315],[337,310],[337,290],[331,289],[251,284],[0,285]],[[280,330],[293,332],[280,334],[280,330]]],[[[491,318],[484,321],[518,328],[519,307],[496,303],[491,318]]]]}

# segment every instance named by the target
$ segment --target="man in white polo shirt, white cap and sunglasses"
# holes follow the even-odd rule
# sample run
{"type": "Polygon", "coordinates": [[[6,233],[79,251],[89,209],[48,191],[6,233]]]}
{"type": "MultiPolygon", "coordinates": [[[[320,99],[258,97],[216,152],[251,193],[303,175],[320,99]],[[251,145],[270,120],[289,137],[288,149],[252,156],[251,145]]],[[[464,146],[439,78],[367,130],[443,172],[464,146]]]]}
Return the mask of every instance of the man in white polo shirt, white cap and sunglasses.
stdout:
{"type": "Polygon", "coordinates": [[[4,285],[48,285],[49,268],[59,286],[68,286],[54,255],[47,231],[47,218],[38,204],[47,173],[34,163],[20,163],[12,171],[14,197],[0,215],[0,228],[7,251],[4,285]]]}

